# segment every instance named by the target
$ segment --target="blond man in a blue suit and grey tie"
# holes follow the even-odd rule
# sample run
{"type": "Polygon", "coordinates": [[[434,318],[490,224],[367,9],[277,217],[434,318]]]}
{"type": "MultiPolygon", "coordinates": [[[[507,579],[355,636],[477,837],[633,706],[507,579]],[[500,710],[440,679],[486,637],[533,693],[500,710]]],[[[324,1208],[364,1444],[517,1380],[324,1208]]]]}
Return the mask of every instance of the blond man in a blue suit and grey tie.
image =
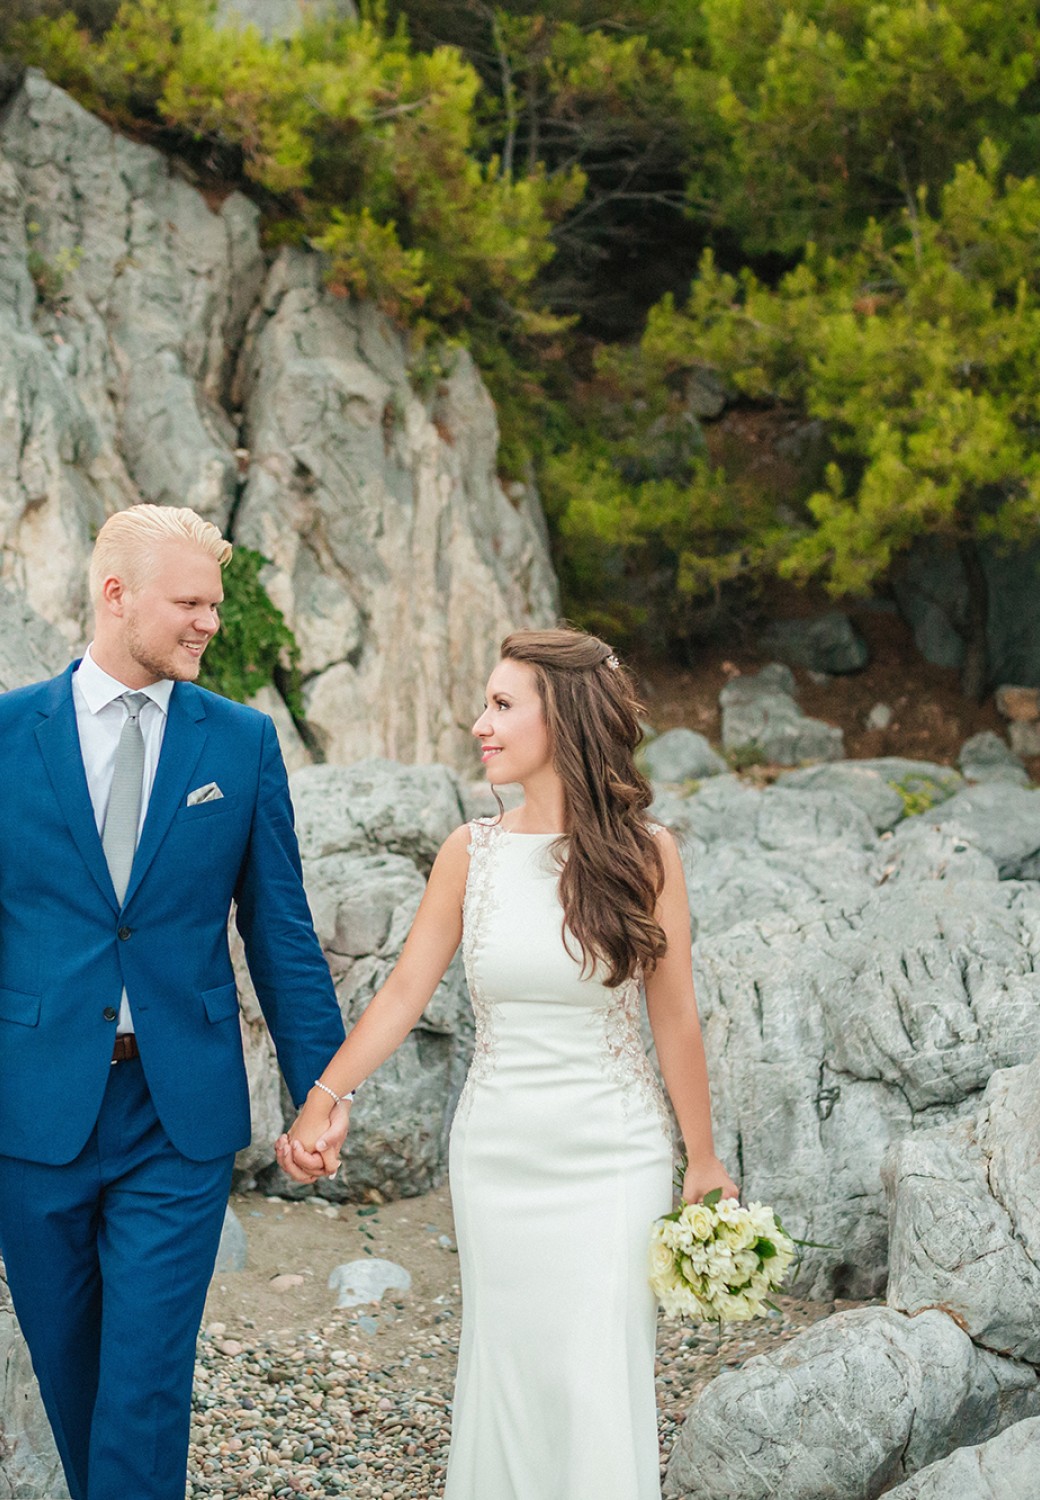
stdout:
{"type": "Polygon", "coordinates": [[[194,686],[230,555],[191,510],[113,516],[83,662],[0,698],[0,1252],[74,1500],[185,1500],[249,1142],[233,902],[297,1104],[344,1036],[275,728],[194,686]]]}

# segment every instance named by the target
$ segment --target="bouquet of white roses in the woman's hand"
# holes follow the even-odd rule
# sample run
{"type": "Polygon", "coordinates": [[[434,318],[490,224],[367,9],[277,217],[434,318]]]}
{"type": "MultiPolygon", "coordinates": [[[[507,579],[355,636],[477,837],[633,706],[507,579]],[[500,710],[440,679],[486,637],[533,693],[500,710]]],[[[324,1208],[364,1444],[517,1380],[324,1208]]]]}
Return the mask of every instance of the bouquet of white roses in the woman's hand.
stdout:
{"type": "Polygon", "coordinates": [[[773,1306],[794,1240],[771,1208],[723,1198],[680,1203],[650,1232],[650,1286],[668,1317],[744,1323],[773,1306]]]}

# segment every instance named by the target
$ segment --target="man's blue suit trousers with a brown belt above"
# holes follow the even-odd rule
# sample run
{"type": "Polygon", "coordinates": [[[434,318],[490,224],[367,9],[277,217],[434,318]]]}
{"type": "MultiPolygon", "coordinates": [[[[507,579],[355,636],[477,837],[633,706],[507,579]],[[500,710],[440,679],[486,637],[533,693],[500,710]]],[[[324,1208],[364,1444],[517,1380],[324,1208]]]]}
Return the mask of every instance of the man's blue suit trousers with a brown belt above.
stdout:
{"type": "Polygon", "coordinates": [[[75,1161],[0,1156],[0,1251],[74,1500],[185,1500],[233,1162],[174,1149],[137,1059],[75,1161]]]}

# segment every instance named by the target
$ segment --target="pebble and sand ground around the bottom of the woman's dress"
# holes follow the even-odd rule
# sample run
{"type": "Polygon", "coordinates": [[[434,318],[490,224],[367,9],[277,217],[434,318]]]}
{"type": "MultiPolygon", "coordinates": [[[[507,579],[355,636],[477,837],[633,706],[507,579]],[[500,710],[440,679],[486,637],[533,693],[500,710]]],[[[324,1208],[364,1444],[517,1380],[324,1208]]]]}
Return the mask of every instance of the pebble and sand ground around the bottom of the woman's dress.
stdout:
{"type": "MultiPolygon", "coordinates": [[[[461,1305],[458,1258],[444,1232],[450,1206],[444,1194],[431,1198],[378,1212],[266,1204],[264,1214],[254,1210],[260,1226],[251,1224],[249,1209],[239,1209],[248,1232],[263,1230],[269,1240],[284,1234],[285,1258],[260,1254],[263,1266],[252,1272],[279,1288],[273,1293],[261,1294],[255,1280],[252,1298],[248,1282],[236,1288],[231,1278],[216,1288],[213,1302],[221,1316],[207,1314],[198,1342],[189,1500],[437,1500],[443,1494],[461,1305]],[[278,1226],[282,1218],[290,1222],[278,1226]],[[362,1252],[384,1256],[396,1248],[402,1262],[411,1260],[419,1272],[413,1292],[387,1293],[380,1304],[359,1308],[332,1308],[315,1318],[320,1274],[327,1275],[329,1258],[341,1248],[345,1258],[357,1240],[362,1252]],[[317,1263],[305,1268],[315,1272],[309,1286],[305,1275],[281,1269],[300,1254],[317,1263]],[[248,1316],[251,1304],[255,1316],[248,1316]],[[282,1326],[266,1326],[273,1322],[282,1326]]],[[[327,1300],[335,1299],[329,1294],[327,1300]]],[[[690,1401],[708,1380],[834,1311],[830,1302],[789,1298],[777,1305],[780,1311],[768,1318],[722,1335],[714,1328],[662,1320],[662,1472],[690,1401]]]]}

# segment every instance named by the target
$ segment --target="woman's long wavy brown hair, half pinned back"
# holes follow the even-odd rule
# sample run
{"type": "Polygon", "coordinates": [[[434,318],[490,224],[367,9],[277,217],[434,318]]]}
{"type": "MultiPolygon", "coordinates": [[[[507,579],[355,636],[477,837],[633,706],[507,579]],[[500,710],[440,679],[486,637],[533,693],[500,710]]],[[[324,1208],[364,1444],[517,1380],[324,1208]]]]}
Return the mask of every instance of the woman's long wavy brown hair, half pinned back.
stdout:
{"type": "Polygon", "coordinates": [[[642,740],[632,680],[603,640],[581,630],[516,630],[501,656],[534,672],[563,782],[564,939],[575,938],[587,970],[602,962],[605,982],[623,984],[666,948],[654,916],[665,868],[644,816],[653,790],[632,759],[642,740]]]}

